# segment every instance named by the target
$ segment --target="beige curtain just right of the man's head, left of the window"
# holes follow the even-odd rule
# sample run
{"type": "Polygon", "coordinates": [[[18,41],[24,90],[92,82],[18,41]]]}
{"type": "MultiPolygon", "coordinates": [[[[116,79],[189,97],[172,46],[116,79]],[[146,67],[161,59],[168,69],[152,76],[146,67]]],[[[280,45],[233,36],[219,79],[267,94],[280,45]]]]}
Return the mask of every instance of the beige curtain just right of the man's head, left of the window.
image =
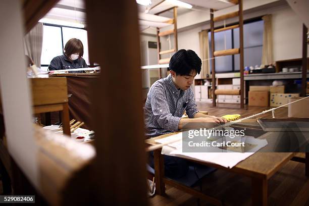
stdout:
{"type": "Polygon", "coordinates": [[[208,31],[207,30],[200,31],[198,32],[198,36],[199,36],[200,58],[202,60],[200,77],[206,78],[207,74],[210,75],[208,31]]]}

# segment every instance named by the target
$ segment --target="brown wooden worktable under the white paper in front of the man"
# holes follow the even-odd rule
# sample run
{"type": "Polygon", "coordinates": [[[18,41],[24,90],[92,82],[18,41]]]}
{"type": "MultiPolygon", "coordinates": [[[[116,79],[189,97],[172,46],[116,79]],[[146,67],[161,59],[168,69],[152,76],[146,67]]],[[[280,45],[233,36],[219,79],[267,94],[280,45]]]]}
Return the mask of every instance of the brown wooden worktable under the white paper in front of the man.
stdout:
{"type": "MultiPolygon", "coordinates": [[[[237,124],[237,126],[242,126],[237,124]]],[[[254,127],[255,128],[255,127],[254,127]]],[[[256,129],[256,128],[255,128],[256,129]]],[[[171,133],[173,134],[173,133],[171,133]]],[[[147,139],[145,142],[148,145],[159,144],[156,142],[157,139],[164,138],[171,134],[162,135],[159,137],[154,137],[147,139]]],[[[264,134],[263,136],[265,136],[264,134]]],[[[159,195],[165,194],[165,184],[169,184],[173,187],[183,190],[184,192],[190,193],[198,198],[203,198],[213,204],[220,205],[220,200],[210,197],[205,194],[200,194],[193,188],[180,185],[179,183],[172,181],[164,177],[164,162],[163,155],[161,155],[161,149],[153,151],[154,161],[155,161],[155,180],[156,180],[156,193],[159,195]]],[[[305,174],[308,176],[309,171],[309,155],[308,152],[305,153],[305,156],[301,154],[298,158],[298,153],[294,152],[256,152],[247,159],[239,162],[233,168],[225,168],[213,163],[202,162],[202,161],[193,161],[198,164],[207,165],[210,167],[226,170],[228,172],[240,174],[246,177],[251,178],[251,201],[252,205],[267,205],[268,201],[268,180],[279,171],[288,161],[298,160],[298,162],[305,163],[305,174]],[[296,159],[294,157],[297,157],[296,159]]]]}

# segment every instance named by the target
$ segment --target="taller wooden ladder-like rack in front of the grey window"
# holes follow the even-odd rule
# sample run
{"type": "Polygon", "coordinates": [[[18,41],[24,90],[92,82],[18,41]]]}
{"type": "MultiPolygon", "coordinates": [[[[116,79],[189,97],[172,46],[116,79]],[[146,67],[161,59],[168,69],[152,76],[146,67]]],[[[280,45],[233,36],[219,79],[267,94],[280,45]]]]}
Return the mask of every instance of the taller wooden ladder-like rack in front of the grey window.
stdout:
{"type": "Polygon", "coordinates": [[[212,84],[213,84],[213,107],[216,107],[216,95],[240,95],[240,108],[244,108],[244,81],[243,81],[243,11],[242,11],[242,0],[238,2],[238,11],[225,14],[219,17],[214,18],[214,10],[211,9],[211,39],[212,39],[212,84]],[[228,26],[220,29],[215,29],[214,23],[217,21],[222,21],[225,19],[230,19],[234,17],[239,17],[239,24],[228,26]],[[229,29],[239,28],[239,48],[231,48],[226,50],[215,51],[215,32],[225,31],[229,29]],[[240,72],[240,89],[235,90],[224,90],[224,89],[215,89],[216,85],[216,69],[215,69],[215,57],[227,56],[227,55],[236,55],[240,54],[239,59],[239,72],[240,72]]]}

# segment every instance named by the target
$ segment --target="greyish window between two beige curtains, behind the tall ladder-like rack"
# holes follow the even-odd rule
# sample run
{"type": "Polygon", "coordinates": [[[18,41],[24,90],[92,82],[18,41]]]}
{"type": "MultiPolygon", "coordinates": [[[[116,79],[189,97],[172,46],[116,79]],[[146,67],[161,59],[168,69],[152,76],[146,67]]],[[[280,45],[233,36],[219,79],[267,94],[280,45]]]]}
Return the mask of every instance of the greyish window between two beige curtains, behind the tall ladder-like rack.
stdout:
{"type": "MultiPolygon", "coordinates": [[[[261,65],[264,21],[250,21],[243,25],[244,67],[261,65]]],[[[209,42],[211,48],[211,32],[209,42]]],[[[215,51],[239,48],[239,28],[215,33],[215,51]]],[[[210,50],[211,54],[211,50],[210,50]]],[[[239,55],[217,57],[216,73],[239,71],[239,55]]],[[[212,62],[210,62],[212,71],[212,62]]]]}

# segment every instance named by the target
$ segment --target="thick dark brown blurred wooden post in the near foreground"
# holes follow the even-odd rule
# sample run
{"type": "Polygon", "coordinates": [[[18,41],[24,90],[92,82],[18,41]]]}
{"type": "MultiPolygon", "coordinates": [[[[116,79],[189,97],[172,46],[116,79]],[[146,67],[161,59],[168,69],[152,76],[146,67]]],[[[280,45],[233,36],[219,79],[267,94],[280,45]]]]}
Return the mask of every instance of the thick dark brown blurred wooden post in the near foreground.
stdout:
{"type": "Polygon", "coordinates": [[[146,152],[140,43],[135,1],[86,0],[96,159],[94,197],[102,205],[145,205],[146,152]]]}

